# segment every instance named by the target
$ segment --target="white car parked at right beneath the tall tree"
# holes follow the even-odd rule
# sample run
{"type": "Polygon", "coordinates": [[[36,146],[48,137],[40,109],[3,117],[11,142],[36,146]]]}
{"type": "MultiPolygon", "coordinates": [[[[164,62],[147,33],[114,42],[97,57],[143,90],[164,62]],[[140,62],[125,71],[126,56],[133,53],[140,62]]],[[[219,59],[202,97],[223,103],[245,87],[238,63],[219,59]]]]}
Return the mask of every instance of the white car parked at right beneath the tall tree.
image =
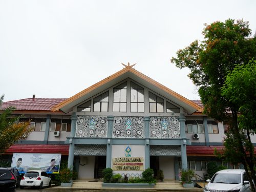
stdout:
{"type": "Polygon", "coordinates": [[[244,169],[225,169],[217,172],[204,187],[204,192],[230,191],[244,192],[251,191],[250,183],[244,169]]]}

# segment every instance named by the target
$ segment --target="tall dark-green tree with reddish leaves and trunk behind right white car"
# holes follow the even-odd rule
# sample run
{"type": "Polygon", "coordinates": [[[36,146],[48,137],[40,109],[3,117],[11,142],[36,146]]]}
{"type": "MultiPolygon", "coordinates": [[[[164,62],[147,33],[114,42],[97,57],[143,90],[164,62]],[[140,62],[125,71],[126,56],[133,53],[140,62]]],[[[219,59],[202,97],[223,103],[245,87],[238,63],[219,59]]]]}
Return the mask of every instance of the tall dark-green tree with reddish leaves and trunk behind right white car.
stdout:
{"type": "MultiPolygon", "coordinates": [[[[230,123],[230,136],[237,141],[241,153],[239,161],[245,165],[247,174],[249,170],[254,173],[246,161],[248,153],[244,147],[243,132],[238,127],[240,104],[231,102],[230,98],[223,95],[222,88],[229,72],[256,56],[256,37],[250,36],[248,22],[237,20],[235,23],[233,19],[206,24],[202,34],[204,40],[201,43],[198,40],[192,42],[190,46],[179,50],[177,58],[173,57],[171,61],[179,68],[190,69],[188,77],[199,88],[203,113],[230,123]]],[[[252,158],[249,161],[253,163],[252,158]]],[[[252,179],[256,181],[255,174],[250,178],[251,184],[252,179]]]]}

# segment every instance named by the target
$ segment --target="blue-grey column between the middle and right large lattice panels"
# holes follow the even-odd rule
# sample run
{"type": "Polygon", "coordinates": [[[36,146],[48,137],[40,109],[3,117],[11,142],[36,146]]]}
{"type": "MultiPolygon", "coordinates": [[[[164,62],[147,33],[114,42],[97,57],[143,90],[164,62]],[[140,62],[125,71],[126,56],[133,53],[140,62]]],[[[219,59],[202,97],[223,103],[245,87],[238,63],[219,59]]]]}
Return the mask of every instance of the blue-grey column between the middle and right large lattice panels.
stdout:
{"type": "Polygon", "coordinates": [[[145,169],[150,168],[150,117],[144,117],[145,169]]]}

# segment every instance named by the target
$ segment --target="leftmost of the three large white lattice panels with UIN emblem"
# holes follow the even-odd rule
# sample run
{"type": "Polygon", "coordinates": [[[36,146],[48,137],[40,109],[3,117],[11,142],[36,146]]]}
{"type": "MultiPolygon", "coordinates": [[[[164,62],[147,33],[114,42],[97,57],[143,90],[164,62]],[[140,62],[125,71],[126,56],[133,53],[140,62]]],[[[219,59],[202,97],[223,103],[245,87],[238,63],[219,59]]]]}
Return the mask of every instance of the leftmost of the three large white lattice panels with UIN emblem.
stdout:
{"type": "Polygon", "coordinates": [[[107,127],[106,116],[78,115],[76,137],[106,137],[107,127]]]}

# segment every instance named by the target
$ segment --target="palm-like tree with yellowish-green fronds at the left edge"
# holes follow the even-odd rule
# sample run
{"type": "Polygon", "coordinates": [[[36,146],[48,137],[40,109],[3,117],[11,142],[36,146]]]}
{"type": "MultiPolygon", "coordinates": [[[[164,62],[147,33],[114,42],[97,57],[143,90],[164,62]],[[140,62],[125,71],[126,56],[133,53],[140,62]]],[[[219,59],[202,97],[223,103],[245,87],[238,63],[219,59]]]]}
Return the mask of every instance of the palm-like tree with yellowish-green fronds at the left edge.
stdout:
{"type": "MultiPolygon", "coordinates": [[[[0,106],[3,103],[4,96],[0,97],[0,106]]],[[[30,133],[28,129],[30,122],[19,122],[21,116],[12,117],[15,110],[10,106],[0,111],[0,155],[19,139],[25,139],[30,133]]]]}

